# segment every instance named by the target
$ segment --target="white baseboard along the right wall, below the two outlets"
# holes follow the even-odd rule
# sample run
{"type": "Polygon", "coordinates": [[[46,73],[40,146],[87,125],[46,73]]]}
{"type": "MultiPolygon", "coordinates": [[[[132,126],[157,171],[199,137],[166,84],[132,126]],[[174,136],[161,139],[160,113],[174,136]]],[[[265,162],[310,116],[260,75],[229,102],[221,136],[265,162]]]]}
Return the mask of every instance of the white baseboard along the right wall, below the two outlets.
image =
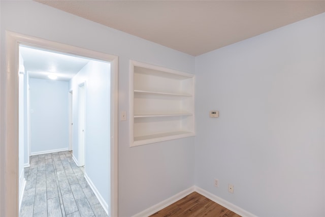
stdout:
{"type": "Polygon", "coordinates": [[[217,204],[220,204],[221,206],[243,216],[243,217],[257,217],[256,215],[240,208],[239,206],[236,206],[235,204],[232,204],[229,201],[226,201],[214,194],[211,194],[210,192],[207,192],[204,189],[201,189],[199,187],[194,187],[194,191],[198,192],[199,194],[205,196],[206,198],[209,198],[210,200],[216,202],[217,204]]]}

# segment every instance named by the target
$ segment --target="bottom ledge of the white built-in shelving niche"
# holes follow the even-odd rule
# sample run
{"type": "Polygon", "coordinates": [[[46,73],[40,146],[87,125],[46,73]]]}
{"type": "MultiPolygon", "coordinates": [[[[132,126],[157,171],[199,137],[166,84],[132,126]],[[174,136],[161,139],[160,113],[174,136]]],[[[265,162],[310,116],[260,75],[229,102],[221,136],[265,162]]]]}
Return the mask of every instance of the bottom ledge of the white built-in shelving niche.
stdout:
{"type": "Polygon", "coordinates": [[[138,137],[134,137],[134,143],[132,146],[145,145],[145,144],[162,142],[162,141],[173,140],[173,139],[180,139],[180,138],[190,137],[190,136],[195,136],[195,134],[193,132],[174,131],[169,133],[138,136],[138,137]]]}

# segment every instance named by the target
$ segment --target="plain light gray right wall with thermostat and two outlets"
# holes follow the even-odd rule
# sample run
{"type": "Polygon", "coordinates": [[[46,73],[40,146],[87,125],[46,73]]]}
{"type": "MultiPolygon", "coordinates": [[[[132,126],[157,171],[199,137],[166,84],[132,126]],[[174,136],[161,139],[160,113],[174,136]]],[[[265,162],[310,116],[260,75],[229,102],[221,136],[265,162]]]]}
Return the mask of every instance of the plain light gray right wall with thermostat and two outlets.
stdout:
{"type": "Polygon", "coordinates": [[[196,58],[196,185],[257,216],[325,215],[324,17],[196,58]]]}

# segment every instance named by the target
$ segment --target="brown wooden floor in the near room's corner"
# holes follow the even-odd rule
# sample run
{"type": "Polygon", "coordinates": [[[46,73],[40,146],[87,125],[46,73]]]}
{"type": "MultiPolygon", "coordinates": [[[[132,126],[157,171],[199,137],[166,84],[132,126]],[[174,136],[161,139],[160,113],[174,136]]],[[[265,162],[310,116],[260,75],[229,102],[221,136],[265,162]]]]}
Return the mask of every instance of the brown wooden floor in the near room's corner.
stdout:
{"type": "Polygon", "coordinates": [[[157,211],[149,217],[167,216],[213,216],[213,217],[241,217],[229,209],[212,200],[193,192],[170,206],[157,211]]]}

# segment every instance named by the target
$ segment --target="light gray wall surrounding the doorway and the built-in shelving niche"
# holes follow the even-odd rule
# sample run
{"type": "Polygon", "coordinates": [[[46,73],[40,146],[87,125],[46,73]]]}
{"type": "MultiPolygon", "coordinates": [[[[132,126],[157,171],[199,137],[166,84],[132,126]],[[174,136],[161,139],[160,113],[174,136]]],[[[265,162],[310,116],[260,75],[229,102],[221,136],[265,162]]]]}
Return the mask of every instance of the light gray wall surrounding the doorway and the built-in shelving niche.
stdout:
{"type": "MultiPolygon", "coordinates": [[[[194,73],[194,57],[34,1],[0,1],[5,30],[119,56],[119,110],[128,110],[129,60],[194,73]],[[19,16],[17,16],[19,14],[19,16]],[[23,17],[23,19],[21,18],[23,17]]],[[[1,41],[1,66],[5,40],[1,41]]],[[[194,138],[129,147],[119,122],[119,215],[131,216],[194,184],[194,138]]],[[[67,130],[68,132],[68,130],[67,130]]]]}

